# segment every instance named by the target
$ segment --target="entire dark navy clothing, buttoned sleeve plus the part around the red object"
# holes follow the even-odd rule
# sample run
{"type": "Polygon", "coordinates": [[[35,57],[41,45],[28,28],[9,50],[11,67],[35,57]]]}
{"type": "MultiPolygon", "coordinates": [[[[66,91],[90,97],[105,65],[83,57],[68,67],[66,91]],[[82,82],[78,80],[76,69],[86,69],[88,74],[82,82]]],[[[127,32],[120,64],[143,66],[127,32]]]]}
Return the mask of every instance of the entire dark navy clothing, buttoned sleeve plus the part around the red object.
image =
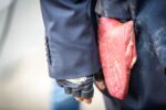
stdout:
{"type": "Polygon", "coordinates": [[[93,8],[95,1],[41,0],[50,75],[73,78],[100,69],[94,9],[102,16],[133,20],[138,56],[128,96],[110,98],[115,110],[166,110],[166,1],[97,0],[93,8]]]}

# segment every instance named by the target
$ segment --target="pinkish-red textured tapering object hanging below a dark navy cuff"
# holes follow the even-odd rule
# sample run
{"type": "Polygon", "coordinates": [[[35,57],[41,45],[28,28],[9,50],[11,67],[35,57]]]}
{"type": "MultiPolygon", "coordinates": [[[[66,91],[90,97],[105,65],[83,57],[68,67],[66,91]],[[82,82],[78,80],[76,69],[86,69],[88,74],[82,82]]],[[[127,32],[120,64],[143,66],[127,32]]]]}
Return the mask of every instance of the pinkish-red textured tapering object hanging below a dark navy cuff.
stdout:
{"type": "Polygon", "coordinates": [[[137,58],[133,21],[121,23],[114,19],[101,18],[98,45],[108,92],[124,99],[128,90],[131,68],[137,58]]]}

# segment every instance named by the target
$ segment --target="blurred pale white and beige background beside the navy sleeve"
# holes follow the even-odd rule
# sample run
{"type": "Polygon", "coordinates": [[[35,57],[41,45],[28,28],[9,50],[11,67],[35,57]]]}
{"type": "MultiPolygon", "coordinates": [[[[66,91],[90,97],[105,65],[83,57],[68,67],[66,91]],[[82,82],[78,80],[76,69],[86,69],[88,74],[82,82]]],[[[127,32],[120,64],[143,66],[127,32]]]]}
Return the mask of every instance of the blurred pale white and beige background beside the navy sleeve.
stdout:
{"type": "MultiPolygon", "coordinates": [[[[65,106],[46,66],[39,0],[0,0],[0,110],[65,106]]],[[[105,110],[101,92],[95,89],[92,105],[79,103],[79,110],[105,110]]]]}

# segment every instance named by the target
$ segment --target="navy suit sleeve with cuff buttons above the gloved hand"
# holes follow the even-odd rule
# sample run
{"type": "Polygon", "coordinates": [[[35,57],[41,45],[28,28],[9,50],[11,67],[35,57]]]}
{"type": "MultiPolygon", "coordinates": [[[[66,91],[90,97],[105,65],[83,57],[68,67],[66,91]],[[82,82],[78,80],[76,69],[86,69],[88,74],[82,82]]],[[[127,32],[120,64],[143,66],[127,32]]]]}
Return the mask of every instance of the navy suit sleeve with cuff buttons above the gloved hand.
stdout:
{"type": "Polygon", "coordinates": [[[52,78],[90,76],[101,68],[90,1],[41,0],[52,78]]]}

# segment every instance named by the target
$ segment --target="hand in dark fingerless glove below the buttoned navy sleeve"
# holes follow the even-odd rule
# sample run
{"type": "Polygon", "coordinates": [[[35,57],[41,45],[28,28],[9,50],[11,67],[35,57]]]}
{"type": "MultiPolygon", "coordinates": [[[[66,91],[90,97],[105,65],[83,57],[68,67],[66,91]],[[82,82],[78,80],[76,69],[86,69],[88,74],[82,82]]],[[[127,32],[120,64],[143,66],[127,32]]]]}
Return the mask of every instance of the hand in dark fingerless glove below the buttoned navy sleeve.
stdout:
{"type": "Polygon", "coordinates": [[[93,98],[93,76],[74,79],[58,79],[60,87],[64,88],[65,94],[72,95],[77,101],[91,103],[93,98]]]}

